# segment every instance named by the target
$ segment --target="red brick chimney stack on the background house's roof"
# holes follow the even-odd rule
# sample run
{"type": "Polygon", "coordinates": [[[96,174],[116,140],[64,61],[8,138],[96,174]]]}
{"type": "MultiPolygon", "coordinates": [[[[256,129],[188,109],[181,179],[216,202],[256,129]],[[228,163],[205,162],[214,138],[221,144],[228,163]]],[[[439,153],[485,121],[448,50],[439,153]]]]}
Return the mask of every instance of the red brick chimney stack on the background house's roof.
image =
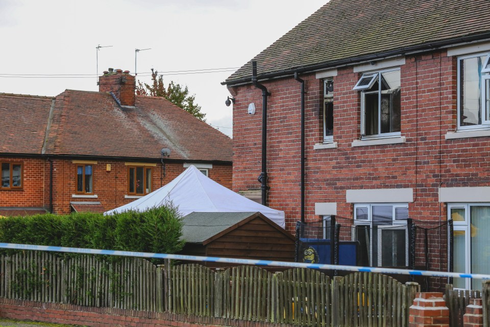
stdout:
{"type": "Polygon", "coordinates": [[[136,79],[129,71],[109,68],[99,77],[99,91],[112,92],[122,106],[134,106],[136,79]]]}

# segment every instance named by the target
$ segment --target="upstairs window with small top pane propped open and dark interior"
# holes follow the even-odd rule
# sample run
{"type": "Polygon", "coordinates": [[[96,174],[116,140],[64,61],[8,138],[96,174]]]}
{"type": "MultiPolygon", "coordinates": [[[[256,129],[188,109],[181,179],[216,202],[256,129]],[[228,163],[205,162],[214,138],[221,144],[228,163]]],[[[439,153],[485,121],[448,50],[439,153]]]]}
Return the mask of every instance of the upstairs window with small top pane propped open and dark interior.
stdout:
{"type": "Polygon", "coordinates": [[[361,92],[362,138],[400,135],[400,69],[365,73],[353,88],[361,92]]]}

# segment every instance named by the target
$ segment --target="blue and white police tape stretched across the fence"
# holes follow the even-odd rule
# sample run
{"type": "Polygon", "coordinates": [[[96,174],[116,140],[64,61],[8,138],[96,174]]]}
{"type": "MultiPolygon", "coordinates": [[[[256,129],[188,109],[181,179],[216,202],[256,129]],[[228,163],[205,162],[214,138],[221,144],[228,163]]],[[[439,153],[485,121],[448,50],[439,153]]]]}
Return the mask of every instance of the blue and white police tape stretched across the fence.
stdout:
{"type": "Polygon", "coordinates": [[[402,275],[415,275],[415,276],[461,277],[461,278],[490,279],[490,275],[487,275],[487,274],[464,274],[464,273],[459,273],[459,272],[445,272],[445,271],[410,270],[410,269],[393,269],[393,268],[377,268],[377,267],[357,267],[357,266],[309,264],[309,263],[301,263],[301,262],[283,262],[283,261],[253,260],[253,259],[216,258],[214,256],[195,256],[195,255],[183,255],[183,254],[165,254],[165,253],[149,253],[149,252],[99,250],[99,249],[31,245],[31,244],[0,243],[0,248],[16,249],[16,250],[36,250],[36,251],[52,251],[52,252],[68,252],[68,253],[84,253],[84,254],[135,256],[138,258],[156,258],[156,259],[174,259],[174,260],[183,260],[183,261],[219,262],[219,263],[255,265],[255,266],[273,266],[273,267],[287,267],[287,268],[312,268],[312,269],[378,272],[378,273],[384,273],[384,274],[402,274],[402,275]]]}

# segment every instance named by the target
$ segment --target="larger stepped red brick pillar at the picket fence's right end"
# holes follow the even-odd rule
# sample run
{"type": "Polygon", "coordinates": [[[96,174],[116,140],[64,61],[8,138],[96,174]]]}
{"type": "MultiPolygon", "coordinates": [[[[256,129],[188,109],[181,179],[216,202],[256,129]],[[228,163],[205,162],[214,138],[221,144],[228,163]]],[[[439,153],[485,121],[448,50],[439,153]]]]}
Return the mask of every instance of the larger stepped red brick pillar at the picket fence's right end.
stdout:
{"type": "Polygon", "coordinates": [[[416,293],[408,319],[409,327],[449,327],[449,309],[443,293],[416,293]]]}

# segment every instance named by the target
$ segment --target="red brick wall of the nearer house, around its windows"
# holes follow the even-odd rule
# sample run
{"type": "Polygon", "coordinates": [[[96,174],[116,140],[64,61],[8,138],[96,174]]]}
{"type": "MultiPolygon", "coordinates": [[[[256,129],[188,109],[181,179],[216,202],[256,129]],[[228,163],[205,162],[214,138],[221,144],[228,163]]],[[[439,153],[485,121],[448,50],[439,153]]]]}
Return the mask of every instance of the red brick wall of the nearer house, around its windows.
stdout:
{"type": "MultiPolygon", "coordinates": [[[[334,77],[335,149],[314,150],[323,141],[323,84],[314,74],[305,80],[306,221],[316,221],[316,202],[336,202],[337,215],[353,217],[346,190],[412,188],[409,216],[445,221],[438,188],[490,185],[490,138],[445,139],[456,129],[456,58],[446,52],[408,56],[401,66],[401,134],[406,143],[352,147],[360,138],[360,92],[352,90],[361,73],[338,69],[334,77]]],[[[267,170],[271,207],[285,211],[293,232],[300,219],[300,83],[290,78],[262,82],[268,98],[267,170]]],[[[261,91],[234,88],[233,190],[260,187],[261,91]],[[247,113],[249,103],[257,108],[247,113]]],[[[437,245],[438,247],[438,245],[437,245]]],[[[439,249],[435,249],[439,251],[439,249]]],[[[441,249],[442,250],[442,249],[441,249]]]]}

